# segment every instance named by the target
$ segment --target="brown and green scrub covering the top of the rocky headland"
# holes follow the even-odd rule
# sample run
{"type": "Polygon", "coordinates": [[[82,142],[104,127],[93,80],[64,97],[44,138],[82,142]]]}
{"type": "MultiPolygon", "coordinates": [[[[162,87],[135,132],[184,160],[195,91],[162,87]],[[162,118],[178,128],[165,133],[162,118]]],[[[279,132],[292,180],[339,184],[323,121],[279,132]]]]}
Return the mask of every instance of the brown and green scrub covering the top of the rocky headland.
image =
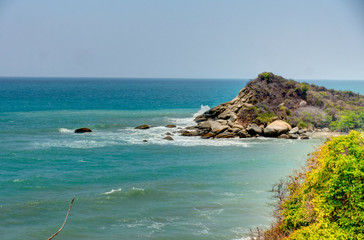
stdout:
{"type": "Polygon", "coordinates": [[[345,131],[364,129],[364,96],[299,83],[264,72],[250,81],[240,96],[249,96],[250,109],[240,111],[241,123],[268,124],[282,119],[301,128],[345,131]]]}

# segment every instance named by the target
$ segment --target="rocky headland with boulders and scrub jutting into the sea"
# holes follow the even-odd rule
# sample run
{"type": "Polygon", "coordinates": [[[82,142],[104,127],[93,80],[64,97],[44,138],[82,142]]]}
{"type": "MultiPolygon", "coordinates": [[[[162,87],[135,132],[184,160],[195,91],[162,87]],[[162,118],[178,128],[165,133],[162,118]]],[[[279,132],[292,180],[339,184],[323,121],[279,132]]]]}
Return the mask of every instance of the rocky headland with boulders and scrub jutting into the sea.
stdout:
{"type": "Polygon", "coordinates": [[[299,129],[327,128],[343,112],[363,107],[364,96],[359,94],[262,73],[233,100],[210,109],[195,122],[203,137],[250,137],[266,135],[265,128],[276,120],[299,129]]]}

